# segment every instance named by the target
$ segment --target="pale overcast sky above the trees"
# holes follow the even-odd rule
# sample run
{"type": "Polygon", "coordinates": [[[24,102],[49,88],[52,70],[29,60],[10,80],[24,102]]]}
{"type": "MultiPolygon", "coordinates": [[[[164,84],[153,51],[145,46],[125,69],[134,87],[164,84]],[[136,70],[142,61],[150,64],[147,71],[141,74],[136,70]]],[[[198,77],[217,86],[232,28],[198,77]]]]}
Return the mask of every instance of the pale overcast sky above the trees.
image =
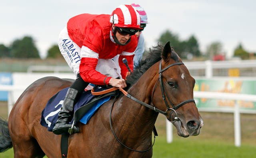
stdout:
{"type": "Polygon", "coordinates": [[[0,44],[10,46],[31,36],[44,58],[73,16],[111,14],[120,4],[132,3],[140,4],[148,15],[143,31],[146,49],[169,30],[181,41],[194,35],[202,52],[216,41],[228,58],[239,43],[256,52],[255,0],[5,0],[0,5],[0,44]]]}

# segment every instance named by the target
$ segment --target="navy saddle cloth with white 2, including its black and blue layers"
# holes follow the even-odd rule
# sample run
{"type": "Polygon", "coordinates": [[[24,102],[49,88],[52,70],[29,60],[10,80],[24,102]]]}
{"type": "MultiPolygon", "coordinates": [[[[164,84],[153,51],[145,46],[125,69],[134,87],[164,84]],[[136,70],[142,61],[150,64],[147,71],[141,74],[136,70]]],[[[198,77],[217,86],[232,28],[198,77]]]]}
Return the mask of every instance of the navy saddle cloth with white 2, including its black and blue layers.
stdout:
{"type": "MultiPolygon", "coordinates": [[[[48,131],[52,131],[55,126],[58,119],[58,113],[60,112],[60,108],[62,107],[68,88],[69,87],[62,89],[49,99],[46,107],[42,111],[40,124],[47,127],[48,131]]],[[[84,91],[76,105],[74,105],[74,119],[72,119],[69,124],[72,124],[73,120],[75,120],[75,123],[80,121],[86,124],[96,110],[110,99],[110,95],[114,95],[114,93],[95,97],[92,95],[91,91],[84,91]]]]}

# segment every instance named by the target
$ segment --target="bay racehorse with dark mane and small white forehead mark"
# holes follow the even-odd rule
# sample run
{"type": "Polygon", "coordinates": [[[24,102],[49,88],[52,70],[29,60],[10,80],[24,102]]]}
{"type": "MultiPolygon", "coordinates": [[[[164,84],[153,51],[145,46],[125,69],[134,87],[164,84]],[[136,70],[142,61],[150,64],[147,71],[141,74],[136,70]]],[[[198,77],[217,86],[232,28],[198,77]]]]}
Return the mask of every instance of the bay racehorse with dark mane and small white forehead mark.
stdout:
{"type": "MultiPolygon", "coordinates": [[[[193,99],[195,79],[170,42],[148,54],[127,77],[130,97],[113,97],[88,124],[77,124],[80,131],[69,136],[67,157],[152,157],[152,131],[159,113],[174,124],[179,136],[200,134],[203,120],[193,99]]],[[[44,77],[27,87],[10,112],[8,128],[7,121],[0,121],[0,151],[13,146],[15,158],[61,157],[61,135],[41,126],[40,119],[47,101],[71,84],[44,77]]]]}

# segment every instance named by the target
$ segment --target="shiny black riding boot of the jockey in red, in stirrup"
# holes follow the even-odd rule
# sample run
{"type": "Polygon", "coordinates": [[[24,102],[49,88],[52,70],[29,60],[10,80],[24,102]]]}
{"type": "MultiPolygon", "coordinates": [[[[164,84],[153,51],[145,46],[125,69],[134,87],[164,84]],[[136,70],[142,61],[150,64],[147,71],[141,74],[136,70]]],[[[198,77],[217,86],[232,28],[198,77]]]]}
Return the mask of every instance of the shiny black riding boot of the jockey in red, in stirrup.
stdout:
{"type": "MultiPolygon", "coordinates": [[[[62,134],[63,132],[68,132],[68,129],[71,128],[72,124],[68,124],[71,113],[74,109],[74,102],[76,100],[76,96],[78,95],[78,90],[74,88],[69,88],[60,109],[60,113],[58,116],[58,120],[52,129],[54,134],[62,134]]],[[[74,133],[79,132],[79,128],[73,126],[74,133]]]]}

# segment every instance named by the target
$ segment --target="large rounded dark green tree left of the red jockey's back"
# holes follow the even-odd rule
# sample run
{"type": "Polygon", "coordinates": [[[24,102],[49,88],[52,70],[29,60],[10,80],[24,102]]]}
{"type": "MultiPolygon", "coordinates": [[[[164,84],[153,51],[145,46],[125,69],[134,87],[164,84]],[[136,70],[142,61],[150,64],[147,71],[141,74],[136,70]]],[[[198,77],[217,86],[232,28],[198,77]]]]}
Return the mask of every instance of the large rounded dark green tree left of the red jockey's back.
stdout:
{"type": "Polygon", "coordinates": [[[40,58],[34,40],[29,36],[14,40],[10,49],[12,57],[15,58],[40,58]]]}

